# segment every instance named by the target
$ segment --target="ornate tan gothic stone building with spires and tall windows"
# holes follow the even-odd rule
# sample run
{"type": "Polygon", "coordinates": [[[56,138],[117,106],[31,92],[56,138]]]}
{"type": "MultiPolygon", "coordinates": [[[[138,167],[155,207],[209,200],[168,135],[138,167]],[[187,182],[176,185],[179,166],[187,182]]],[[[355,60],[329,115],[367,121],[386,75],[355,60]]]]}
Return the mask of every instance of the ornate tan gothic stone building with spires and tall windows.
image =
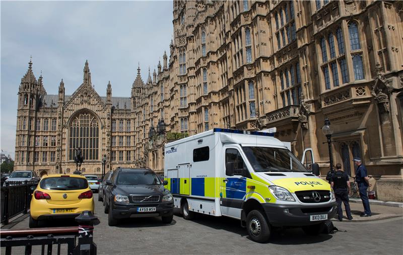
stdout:
{"type": "Polygon", "coordinates": [[[90,171],[105,153],[109,167],[131,163],[162,171],[169,137],[149,134],[164,120],[168,134],[183,135],[215,127],[277,127],[276,136],[291,142],[298,157],[312,147],[325,174],[329,154],[321,127],[327,117],[334,161],[354,176],[352,158],[361,157],[377,198],[402,201],[402,22],[401,1],[174,1],[169,60],[164,53],[163,66],[158,63],[146,83],[138,74],[131,98],[114,101],[110,90],[99,98],[85,78],[70,98],[60,85],[52,103],[41,77],[36,82],[28,71],[19,93],[18,167],[72,169],[68,128],[74,116],[87,113],[96,116],[102,138],[94,163],[84,166],[90,171]],[[24,117],[29,125],[48,116],[57,122],[54,131],[22,127],[24,117]],[[112,131],[113,120],[131,120],[132,131],[112,131]],[[42,136],[51,132],[55,138],[47,139],[55,139],[56,150],[42,146],[42,136]],[[115,149],[113,137],[129,135],[130,146],[115,149]],[[28,137],[39,136],[42,147],[34,140],[27,146],[28,137]],[[38,155],[37,162],[34,155],[28,159],[45,150],[56,153],[53,163],[40,162],[38,155]]]}

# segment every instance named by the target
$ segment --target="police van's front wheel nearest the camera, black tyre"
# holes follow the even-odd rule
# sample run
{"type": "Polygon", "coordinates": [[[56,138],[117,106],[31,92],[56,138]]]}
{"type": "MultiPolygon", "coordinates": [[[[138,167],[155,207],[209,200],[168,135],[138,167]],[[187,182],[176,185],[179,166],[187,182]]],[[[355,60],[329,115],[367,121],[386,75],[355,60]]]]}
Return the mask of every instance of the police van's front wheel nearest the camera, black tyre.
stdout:
{"type": "Polygon", "coordinates": [[[246,229],[250,239],[255,242],[266,242],[270,238],[270,225],[268,225],[266,218],[258,210],[248,213],[246,229]]]}

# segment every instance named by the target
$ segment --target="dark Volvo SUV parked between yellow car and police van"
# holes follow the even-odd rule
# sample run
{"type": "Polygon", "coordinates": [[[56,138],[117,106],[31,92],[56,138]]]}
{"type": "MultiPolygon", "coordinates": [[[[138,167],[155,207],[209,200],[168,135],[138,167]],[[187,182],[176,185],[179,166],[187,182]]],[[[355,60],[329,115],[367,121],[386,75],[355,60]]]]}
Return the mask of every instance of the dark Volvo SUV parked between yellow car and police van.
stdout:
{"type": "Polygon", "coordinates": [[[164,223],[173,218],[173,198],[151,169],[117,168],[105,182],[105,213],[108,224],[114,226],[118,219],[134,217],[162,217],[164,223]]]}

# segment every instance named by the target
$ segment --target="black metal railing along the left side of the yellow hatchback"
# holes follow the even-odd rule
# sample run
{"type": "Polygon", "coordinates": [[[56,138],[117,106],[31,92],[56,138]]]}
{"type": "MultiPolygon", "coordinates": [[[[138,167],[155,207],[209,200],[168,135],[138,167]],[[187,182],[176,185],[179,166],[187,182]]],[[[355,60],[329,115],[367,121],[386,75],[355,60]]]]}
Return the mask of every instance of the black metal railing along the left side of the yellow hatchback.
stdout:
{"type": "Polygon", "coordinates": [[[20,214],[28,213],[31,204],[31,187],[38,182],[5,182],[1,187],[0,204],[1,223],[9,224],[9,219],[20,214]]]}

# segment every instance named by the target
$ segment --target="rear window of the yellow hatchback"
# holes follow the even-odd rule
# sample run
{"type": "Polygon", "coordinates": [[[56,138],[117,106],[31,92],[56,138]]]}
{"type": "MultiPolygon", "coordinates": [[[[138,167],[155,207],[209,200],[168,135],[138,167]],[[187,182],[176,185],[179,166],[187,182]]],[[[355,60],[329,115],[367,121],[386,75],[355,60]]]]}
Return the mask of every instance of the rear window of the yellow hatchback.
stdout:
{"type": "Polygon", "coordinates": [[[88,188],[88,182],[83,178],[50,177],[42,179],[40,187],[45,190],[83,190],[88,188]]]}

